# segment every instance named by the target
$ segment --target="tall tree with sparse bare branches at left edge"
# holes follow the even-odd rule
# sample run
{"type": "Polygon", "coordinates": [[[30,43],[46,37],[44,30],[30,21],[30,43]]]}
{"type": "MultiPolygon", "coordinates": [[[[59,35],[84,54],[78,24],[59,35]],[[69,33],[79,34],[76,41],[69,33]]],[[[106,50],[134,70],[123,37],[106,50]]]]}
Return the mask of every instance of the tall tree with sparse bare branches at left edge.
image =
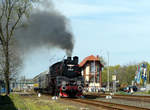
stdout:
{"type": "Polygon", "coordinates": [[[32,0],[0,0],[0,44],[2,53],[2,73],[6,83],[6,94],[9,94],[11,76],[10,43],[15,38],[14,32],[23,16],[28,15],[32,0]]]}

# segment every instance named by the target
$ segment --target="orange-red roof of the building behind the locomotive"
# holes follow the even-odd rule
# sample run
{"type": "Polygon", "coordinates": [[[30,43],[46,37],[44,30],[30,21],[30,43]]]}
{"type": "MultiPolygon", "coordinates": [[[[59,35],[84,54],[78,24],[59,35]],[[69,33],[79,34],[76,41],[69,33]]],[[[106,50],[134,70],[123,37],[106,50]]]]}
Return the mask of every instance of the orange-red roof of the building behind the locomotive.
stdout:
{"type": "Polygon", "coordinates": [[[80,67],[84,66],[87,61],[100,61],[100,58],[98,56],[95,57],[93,55],[88,56],[79,64],[79,66],[80,67]]]}

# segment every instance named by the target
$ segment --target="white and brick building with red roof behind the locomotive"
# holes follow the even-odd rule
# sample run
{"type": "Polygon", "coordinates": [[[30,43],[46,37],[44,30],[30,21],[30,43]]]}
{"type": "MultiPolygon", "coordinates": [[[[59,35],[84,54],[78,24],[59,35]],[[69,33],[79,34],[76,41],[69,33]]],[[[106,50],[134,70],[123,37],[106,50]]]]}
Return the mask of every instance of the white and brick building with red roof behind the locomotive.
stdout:
{"type": "Polygon", "coordinates": [[[81,63],[82,75],[88,91],[98,91],[102,85],[102,67],[99,56],[88,56],[81,63]]]}

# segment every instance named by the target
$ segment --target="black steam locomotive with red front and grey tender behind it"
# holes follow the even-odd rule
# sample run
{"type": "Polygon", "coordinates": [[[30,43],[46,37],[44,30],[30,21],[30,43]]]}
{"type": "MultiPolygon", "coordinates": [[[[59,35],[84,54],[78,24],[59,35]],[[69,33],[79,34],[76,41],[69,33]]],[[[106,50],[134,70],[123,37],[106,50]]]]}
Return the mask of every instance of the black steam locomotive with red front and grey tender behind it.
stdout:
{"type": "Polygon", "coordinates": [[[78,65],[78,57],[67,57],[49,67],[46,74],[35,78],[38,87],[35,91],[60,97],[80,97],[84,78],[78,65]]]}

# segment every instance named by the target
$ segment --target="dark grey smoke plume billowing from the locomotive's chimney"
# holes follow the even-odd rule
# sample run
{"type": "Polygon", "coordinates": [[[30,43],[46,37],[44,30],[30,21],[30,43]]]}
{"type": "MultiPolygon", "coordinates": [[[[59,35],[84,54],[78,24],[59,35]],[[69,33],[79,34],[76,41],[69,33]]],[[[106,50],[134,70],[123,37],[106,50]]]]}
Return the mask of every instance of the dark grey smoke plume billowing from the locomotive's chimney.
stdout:
{"type": "Polygon", "coordinates": [[[48,46],[63,49],[71,56],[73,50],[74,41],[68,20],[54,9],[33,11],[29,19],[24,20],[23,27],[16,31],[15,36],[20,49],[25,52],[48,46]]]}

